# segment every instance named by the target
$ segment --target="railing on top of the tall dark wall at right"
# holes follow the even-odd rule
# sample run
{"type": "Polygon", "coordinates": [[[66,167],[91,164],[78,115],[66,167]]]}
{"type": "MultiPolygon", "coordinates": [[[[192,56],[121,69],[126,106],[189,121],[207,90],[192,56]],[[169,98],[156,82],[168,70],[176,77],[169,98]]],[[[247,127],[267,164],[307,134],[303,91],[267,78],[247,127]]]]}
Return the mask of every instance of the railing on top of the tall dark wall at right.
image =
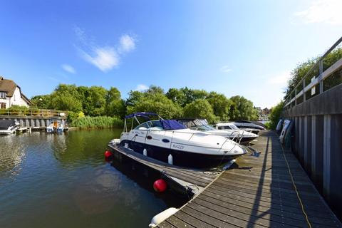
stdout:
{"type": "Polygon", "coordinates": [[[334,43],[333,46],[331,46],[331,48],[329,48],[328,51],[326,51],[326,53],[324,53],[323,56],[318,59],[314,66],[311,67],[306,75],[301,79],[301,81],[297,83],[293,90],[291,90],[289,95],[287,95],[285,98],[284,109],[292,108],[299,103],[304,103],[309,98],[323,93],[323,81],[341,69],[342,58],[335,63],[332,63],[326,69],[323,69],[323,62],[328,54],[338,47],[340,43],[342,43],[342,37],[339,38],[338,41],[336,41],[336,43],[334,43]],[[309,78],[309,76],[311,76],[311,78],[309,78]],[[310,81],[308,81],[308,79],[310,81]],[[311,94],[308,95],[308,91],[311,91],[311,94]]]}

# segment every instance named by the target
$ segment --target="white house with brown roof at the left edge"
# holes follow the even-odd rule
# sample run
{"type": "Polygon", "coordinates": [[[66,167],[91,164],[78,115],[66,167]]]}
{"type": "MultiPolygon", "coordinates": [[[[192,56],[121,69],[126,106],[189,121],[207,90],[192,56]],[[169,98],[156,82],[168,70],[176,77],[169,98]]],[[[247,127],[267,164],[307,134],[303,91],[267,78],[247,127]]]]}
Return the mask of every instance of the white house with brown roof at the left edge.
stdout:
{"type": "Polygon", "coordinates": [[[0,108],[10,108],[12,105],[28,107],[31,101],[21,93],[21,89],[14,81],[0,76],[0,108]]]}

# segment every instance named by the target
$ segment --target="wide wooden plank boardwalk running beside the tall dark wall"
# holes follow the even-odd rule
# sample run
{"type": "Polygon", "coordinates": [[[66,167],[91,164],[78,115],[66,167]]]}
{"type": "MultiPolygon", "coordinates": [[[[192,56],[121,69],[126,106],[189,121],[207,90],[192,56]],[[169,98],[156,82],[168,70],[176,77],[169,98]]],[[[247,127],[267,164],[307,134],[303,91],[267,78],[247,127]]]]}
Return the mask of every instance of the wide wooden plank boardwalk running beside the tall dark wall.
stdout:
{"type": "Polygon", "coordinates": [[[262,132],[253,148],[260,153],[239,157],[157,227],[342,227],[274,132],[262,132]]]}

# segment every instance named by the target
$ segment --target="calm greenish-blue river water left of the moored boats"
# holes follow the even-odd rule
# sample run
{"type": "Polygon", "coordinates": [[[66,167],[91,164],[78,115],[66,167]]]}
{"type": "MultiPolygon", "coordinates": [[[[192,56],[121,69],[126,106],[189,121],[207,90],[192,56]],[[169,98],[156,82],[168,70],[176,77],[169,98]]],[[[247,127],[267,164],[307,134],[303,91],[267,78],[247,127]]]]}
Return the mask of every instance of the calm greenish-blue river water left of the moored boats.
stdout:
{"type": "Polygon", "coordinates": [[[104,161],[120,132],[0,137],[0,227],[147,227],[184,204],[173,192],[153,192],[157,174],[104,161]]]}

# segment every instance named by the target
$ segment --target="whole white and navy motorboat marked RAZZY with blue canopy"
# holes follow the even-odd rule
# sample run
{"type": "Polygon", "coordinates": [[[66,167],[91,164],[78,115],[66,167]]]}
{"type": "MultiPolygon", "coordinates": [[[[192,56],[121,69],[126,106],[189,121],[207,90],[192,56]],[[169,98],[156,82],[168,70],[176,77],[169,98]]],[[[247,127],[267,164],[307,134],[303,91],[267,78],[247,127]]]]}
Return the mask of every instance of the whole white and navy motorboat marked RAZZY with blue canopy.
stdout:
{"type": "Polygon", "coordinates": [[[217,167],[247,152],[229,138],[187,129],[177,120],[163,120],[155,113],[127,115],[120,146],[184,167],[217,167]],[[151,116],[158,120],[150,120],[151,116]],[[138,117],[147,121],[140,124],[138,117]],[[127,119],[130,118],[132,127],[128,132],[127,119]],[[136,128],[133,128],[134,120],[139,124],[136,128]]]}

